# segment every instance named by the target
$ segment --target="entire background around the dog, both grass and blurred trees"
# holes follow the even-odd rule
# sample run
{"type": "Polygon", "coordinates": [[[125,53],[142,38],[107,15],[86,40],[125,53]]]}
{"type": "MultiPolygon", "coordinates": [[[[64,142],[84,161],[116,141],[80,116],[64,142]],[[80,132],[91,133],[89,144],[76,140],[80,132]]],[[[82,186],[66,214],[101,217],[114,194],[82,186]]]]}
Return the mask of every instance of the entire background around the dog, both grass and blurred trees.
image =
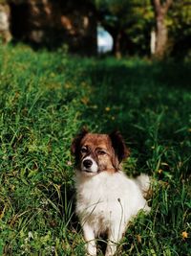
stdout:
{"type": "Polygon", "coordinates": [[[83,126],[120,130],[124,172],[153,179],[117,255],[191,255],[190,25],[191,0],[0,0],[0,255],[85,255],[83,126]]]}

